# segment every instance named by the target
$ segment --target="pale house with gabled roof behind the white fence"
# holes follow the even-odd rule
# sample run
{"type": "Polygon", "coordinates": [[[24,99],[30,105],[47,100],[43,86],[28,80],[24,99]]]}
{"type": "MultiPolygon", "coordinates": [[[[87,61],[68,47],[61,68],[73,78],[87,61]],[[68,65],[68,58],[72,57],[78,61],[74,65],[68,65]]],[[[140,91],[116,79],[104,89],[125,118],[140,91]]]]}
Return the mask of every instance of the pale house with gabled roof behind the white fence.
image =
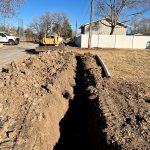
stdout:
{"type": "MultiPolygon", "coordinates": [[[[80,27],[81,34],[89,34],[89,26],[90,26],[89,23],[81,25],[80,27]]],[[[109,35],[110,32],[111,32],[110,19],[105,18],[92,22],[92,34],[109,35]]],[[[126,35],[126,32],[127,32],[127,25],[118,22],[113,34],[126,35]]]]}

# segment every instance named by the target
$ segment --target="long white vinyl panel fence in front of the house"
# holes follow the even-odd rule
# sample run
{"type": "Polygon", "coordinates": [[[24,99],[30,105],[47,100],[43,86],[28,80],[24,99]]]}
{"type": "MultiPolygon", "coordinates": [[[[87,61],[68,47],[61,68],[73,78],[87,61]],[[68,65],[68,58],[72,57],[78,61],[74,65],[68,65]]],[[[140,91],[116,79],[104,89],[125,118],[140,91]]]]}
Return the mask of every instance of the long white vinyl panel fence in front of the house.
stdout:
{"type": "MultiPolygon", "coordinates": [[[[76,37],[75,43],[81,48],[88,47],[88,35],[76,37]]],[[[150,36],[92,35],[91,47],[100,48],[150,48],[150,36]]]]}

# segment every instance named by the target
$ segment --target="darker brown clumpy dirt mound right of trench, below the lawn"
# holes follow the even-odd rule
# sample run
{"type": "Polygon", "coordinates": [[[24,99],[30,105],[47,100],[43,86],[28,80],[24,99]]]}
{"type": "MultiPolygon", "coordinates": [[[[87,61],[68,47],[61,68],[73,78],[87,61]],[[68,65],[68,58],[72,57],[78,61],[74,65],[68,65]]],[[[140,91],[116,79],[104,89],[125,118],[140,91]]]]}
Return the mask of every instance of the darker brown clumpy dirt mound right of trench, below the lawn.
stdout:
{"type": "Polygon", "coordinates": [[[122,149],[146,149],[149,145],[148,89],[128,82],[106,81],[101,95],[101,107],[107,119],[109,142],[122,149]]]}

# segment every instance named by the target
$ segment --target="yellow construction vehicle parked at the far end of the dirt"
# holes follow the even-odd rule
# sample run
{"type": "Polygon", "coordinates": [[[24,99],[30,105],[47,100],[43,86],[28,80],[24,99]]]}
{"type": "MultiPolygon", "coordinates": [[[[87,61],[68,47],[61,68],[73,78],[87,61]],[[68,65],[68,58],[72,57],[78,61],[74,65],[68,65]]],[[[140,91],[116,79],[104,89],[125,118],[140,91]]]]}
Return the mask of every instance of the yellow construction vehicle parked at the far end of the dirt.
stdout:
{"type": "Polygon", "coordinates": [[[45,36],[44,38],[40,38],[39,40],[40,46],[49,46],[49,45],[59,46],[61,44],[63,44],[63,39],[57,34],[45,36]]]}

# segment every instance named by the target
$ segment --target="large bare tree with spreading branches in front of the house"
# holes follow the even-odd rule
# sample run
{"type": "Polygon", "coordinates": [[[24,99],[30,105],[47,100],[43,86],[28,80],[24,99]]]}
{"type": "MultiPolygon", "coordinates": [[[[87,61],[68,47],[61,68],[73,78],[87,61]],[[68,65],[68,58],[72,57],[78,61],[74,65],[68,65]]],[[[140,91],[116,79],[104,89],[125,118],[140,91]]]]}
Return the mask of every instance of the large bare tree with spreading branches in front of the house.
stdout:
{"type": "Polygon", "coordinates": [[[96,12],[98,16],[108,18],[112,35],[120,23],[128,22],[133,16],[145,13],[150,8],[150,0],[97,0],[96,12]]]}

